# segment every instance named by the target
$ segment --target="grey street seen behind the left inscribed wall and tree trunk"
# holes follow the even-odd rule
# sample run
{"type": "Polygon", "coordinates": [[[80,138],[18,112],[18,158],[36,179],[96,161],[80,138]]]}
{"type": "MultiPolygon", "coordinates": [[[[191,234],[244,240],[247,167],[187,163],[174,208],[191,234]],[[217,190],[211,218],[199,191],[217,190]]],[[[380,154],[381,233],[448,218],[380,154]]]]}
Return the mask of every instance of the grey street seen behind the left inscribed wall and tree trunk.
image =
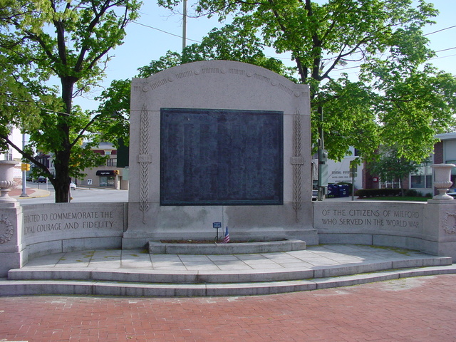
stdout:
{"type": "MultiPolygon", "coordinates": [[[[16,197],[21,205],[55,203],[55,192],[51,185],[44,183],[27,182],[27,187],[39,188],[48,190],[49,196],[37,198],[21,198],[16,197]]],[[[100,188],[78,187],[76,190],[71,190],[71,202],[87,203],[87,202],[128,202],[128,190],[113,190],[100,188]]]]}

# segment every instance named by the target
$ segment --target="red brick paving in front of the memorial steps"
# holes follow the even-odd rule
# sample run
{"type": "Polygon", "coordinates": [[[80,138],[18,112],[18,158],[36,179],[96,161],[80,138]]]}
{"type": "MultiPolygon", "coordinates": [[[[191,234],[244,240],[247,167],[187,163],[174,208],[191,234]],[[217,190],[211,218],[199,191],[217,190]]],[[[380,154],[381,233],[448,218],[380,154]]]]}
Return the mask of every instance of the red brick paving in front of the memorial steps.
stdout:
{"type": "Polygon", "coordinates": [[[455,282],[252,297],[0,297],[0,341],[456,341],[455,282]]]}

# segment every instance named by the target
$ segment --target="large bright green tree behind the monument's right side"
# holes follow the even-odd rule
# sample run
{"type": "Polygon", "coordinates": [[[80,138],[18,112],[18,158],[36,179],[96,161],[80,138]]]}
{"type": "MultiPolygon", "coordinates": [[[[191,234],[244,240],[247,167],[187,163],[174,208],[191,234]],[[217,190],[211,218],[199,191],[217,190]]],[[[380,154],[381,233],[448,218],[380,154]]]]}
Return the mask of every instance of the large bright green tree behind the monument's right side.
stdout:
{"type": "Polygon", "coordinates": [[[434,53],[422,29],[437,11],[423,0],[199,0],[196,10],[234,18],[258,46],[291,54],[299,82],[311,86],[314,140],[322,128],[332,159],[349,146],[370,159],[378,145],[397,145],[400,157],[419,161],[454,124],[455,78],[425,64],[434,53]],[[358,76],[334,78],[346,63],[358,76]]]}

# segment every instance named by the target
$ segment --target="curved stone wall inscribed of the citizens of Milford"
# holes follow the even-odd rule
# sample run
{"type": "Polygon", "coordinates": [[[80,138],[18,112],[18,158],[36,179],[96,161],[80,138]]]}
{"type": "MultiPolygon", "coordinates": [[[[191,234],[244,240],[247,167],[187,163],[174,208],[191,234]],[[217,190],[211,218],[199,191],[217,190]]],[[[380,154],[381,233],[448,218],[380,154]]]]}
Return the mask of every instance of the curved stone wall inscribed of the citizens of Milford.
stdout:
{"type": "Polygon", "coordinates": [[[455,209],[454,201],[323,201],[314,203],[314,228],[321,244],[373,244],[455,258],[455,209]]]}

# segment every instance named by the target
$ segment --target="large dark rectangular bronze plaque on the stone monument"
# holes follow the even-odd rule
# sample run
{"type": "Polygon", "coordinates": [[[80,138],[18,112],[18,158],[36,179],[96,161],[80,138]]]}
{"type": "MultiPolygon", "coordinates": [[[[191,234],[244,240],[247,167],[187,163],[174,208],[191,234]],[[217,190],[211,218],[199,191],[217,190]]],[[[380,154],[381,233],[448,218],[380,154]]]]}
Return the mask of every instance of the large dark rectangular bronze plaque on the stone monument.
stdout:
{"type": "Polygon", "coordinates": [[[161,205],[284,202],[284,113],[162,108],[161,205]]]}

